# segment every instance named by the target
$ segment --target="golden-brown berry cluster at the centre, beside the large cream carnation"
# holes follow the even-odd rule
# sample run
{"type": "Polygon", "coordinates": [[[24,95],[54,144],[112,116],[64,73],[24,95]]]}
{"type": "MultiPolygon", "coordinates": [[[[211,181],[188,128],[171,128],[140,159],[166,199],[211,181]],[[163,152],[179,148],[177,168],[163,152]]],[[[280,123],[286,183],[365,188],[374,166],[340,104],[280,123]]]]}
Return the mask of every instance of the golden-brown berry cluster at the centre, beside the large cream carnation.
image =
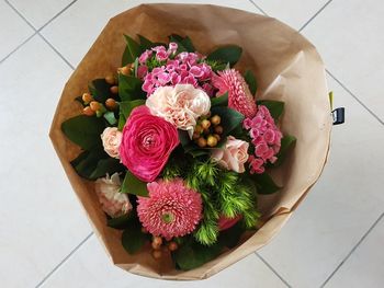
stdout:
{"type": "Polygon", "coordinates": [[[218,115],[199,120],[192,136],[194,142],[201,148],[216,147],[223,134],[221,122],[222,118],[218,115]]]}

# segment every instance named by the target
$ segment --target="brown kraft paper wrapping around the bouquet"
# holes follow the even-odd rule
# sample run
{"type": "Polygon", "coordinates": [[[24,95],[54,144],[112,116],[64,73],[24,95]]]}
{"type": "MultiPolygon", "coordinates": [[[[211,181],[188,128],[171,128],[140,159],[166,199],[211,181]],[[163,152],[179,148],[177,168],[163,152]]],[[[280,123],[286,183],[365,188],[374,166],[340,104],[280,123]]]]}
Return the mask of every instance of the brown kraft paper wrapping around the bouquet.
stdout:
{"type": "Polygon", "coordinates": [[[266,245],[279,232],[318,180],[328,155],[330,130],[323,61],[315,47],[296,31],[274,19],[228,8],[143,4],[110,20],[66,83],[49,135],[72,188],[112,262],[147,277],[189,280],[218,273],[266,245]],[[81,113],[74,99],[87,91],[89,81],[115,72],[120,67],[125,48],[123,34],[142,34],[154,42],[167,42],[171,33],[190,36],[203,54],[221,45],[241,46],[244,54],[236,68],[253,70],[258,81],[257,99],[285,102],[282,130],[297,138],[284,165],[272,172],[283,189],[273,196],[259,197],[263,214],[261,228],[244,237],[237,247],[189,272],[176,270],[169,257],[155,261],[149,246],[137,255],[124,251],[121,232],[105,224],[93,184],[78,176],[69,163],[80,152],[79,148],[60,130],[64,120],[81,113]]]}

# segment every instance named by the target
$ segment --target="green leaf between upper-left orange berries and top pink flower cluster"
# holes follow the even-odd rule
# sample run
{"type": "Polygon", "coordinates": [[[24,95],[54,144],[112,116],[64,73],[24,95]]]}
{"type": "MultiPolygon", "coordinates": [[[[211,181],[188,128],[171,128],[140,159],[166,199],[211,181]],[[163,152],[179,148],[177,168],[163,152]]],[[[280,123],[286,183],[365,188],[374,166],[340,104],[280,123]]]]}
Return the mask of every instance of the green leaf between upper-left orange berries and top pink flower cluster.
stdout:
{"type": "Polygon", "coordinates": [[[118,73],[118,96],[122,101],[146,99],[142,85],[143,81],[140,79],[118,73]]]}

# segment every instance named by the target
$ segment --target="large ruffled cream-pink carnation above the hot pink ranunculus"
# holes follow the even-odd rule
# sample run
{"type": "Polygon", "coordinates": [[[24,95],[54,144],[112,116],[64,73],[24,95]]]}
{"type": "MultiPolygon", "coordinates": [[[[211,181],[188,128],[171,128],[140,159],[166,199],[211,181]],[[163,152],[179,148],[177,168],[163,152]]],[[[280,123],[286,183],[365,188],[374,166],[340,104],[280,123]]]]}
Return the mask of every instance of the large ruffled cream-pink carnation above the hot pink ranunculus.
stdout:
{"type": "Polygon", "coordinates": [[[210,96],[191,84],[177,84],[158,88],[146,101],[155,116],[173,124],[178,129],[187,130],[192,137],[196,119],[206,115],[211,108],[210,96]]]}

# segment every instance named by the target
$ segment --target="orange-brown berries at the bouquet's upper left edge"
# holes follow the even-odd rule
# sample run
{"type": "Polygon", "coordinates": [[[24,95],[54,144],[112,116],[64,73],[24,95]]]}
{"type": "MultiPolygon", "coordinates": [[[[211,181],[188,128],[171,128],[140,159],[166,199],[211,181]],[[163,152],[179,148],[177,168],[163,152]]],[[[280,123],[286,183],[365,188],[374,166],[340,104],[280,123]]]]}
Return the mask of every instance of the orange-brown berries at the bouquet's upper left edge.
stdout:
{"type": "MultiPolygon", "coordinates": [[[[111,85],[110,90],[112,94],[118,93],[116,80],[112,74],[105,77],[105,82],[111,85]]],[[[93,95],[86,92],[82,94],[81,100],[84,104],[82,113],[87,116],[97,115],[101,117],[106,111],[115,111],[117,108],[117,102],[112,97],[108,99],[105,103],[100,103],[93,99],[93,95]]]]}

